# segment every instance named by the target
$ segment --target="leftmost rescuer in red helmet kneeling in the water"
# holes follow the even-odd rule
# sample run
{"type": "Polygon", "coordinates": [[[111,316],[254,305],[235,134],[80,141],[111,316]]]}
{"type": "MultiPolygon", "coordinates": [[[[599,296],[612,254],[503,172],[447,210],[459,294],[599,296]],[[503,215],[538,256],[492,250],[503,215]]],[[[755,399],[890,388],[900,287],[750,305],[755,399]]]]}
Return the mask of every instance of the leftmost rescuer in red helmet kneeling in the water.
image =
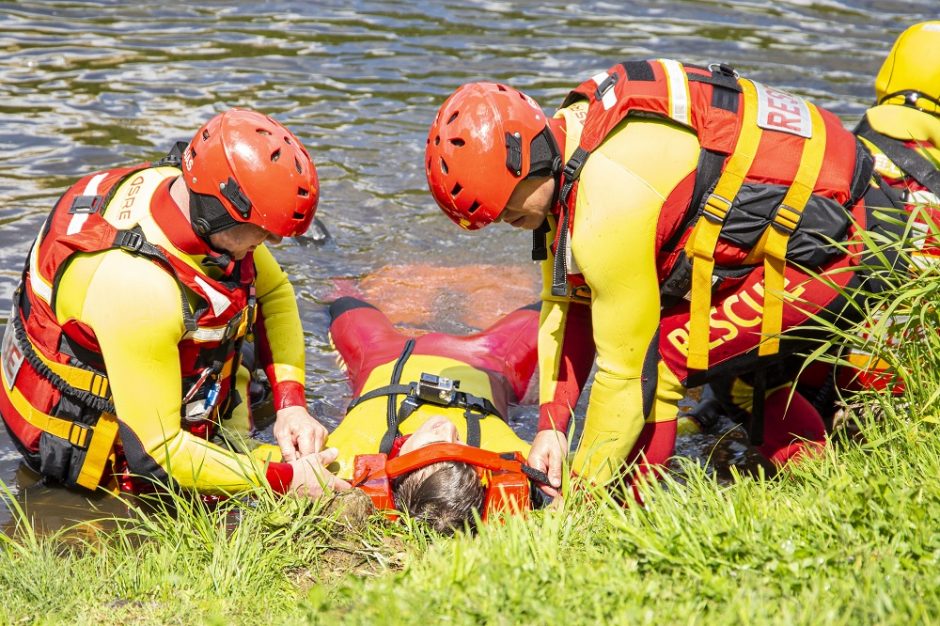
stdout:
{"type": "Polygon", "coordinates": [[[303,233],[318,197],[301,142],[244,109],[214,116],[162,161],[66,191],[3,339],[0,415],[27,464],[87,489],[347,487],[323,469],[335,451],[322,450],[326,429],[306,408],[294,291],[265,246],[303,233]],[[249,339],[278,443],[253,451],[241,446],[249,339]]]}

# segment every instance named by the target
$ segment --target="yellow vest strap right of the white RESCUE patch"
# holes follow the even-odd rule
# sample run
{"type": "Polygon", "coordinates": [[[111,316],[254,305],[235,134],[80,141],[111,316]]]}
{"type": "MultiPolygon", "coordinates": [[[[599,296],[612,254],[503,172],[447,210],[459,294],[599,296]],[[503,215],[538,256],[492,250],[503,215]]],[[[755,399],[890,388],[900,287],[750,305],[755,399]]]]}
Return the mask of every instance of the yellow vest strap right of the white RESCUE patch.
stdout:
{"type": "MultiPolygon", "coordinates": [[[[764,245],[764,319],[761,325],[761,341],[758,354],[766,356],[780,351],[780,332],[783,328],[783,274],[787,268],[787,242],[796,229],[809,202],[816,179],[822,168],[826,152],[826,125],[819,110],[807,102],[813,134],[803,142],[800,166],[787,190],[787,195],[777,208],[773,222],[763,238],[764,245]]],[[[758,246],[760,248],[761,246],[758,246]]]]}

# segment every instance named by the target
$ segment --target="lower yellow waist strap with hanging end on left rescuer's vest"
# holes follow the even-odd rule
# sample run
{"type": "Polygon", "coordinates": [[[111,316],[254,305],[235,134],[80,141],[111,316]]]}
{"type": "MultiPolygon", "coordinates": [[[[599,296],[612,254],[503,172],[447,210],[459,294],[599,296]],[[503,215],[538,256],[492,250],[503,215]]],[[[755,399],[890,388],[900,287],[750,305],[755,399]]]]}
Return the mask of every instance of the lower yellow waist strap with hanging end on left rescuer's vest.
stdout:
{"type": "Polygon", "coordinates": [[[76,483],[86,489],[97,488],[117,439],[117,418],[102,413],[94,427],[85,426],[43,413],[30,404],[16,387],[9,389],[8,394],[13,408],[31,426],[85,450],[76,483]]]}

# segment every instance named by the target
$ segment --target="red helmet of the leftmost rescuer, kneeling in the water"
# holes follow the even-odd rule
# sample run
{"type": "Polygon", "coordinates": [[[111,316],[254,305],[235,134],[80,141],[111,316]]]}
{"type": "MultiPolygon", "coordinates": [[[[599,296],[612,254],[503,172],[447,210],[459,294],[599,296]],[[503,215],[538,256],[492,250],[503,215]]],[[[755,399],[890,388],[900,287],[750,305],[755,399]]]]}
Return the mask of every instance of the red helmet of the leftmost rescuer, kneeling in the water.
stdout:
{"type": "Polygon", "coordinates": [[[247,109],[220,113],[183,153],[193,228],[206,237],[238,223],[280,237],[307,230],[317,210],[317,170],[287,128],[247,109]]]}

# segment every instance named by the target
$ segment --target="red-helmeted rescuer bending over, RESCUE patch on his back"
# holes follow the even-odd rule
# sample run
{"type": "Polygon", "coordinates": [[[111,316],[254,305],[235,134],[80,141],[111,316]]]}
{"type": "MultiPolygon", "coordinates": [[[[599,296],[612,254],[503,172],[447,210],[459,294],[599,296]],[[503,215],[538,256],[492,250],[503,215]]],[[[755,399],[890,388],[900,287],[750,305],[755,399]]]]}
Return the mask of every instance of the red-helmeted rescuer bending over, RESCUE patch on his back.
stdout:
{"type": "Polygon", "coordinates": [[[582,83],[552,118],[511,87],[460,87],[431,126],[425,166],[463,228],[535,233],[541,413],[529,462],[553,484],[595,360],[572,460],[591,480],[664,462],[684,387],[711,376],[764,372],[752,395],[766,400],[755,435],[770,456],[800,438],[822,445],[819,415],[787,403],[786,379],[767,374],[801,345],[782,331],[844,305],[800,267],[858,282],[839,272],[854,255],[829,242],[850,237],[853,219],[864,227],[866,206],[891,204],[834,115],[724,65],[629,61],[582,83]]]}

